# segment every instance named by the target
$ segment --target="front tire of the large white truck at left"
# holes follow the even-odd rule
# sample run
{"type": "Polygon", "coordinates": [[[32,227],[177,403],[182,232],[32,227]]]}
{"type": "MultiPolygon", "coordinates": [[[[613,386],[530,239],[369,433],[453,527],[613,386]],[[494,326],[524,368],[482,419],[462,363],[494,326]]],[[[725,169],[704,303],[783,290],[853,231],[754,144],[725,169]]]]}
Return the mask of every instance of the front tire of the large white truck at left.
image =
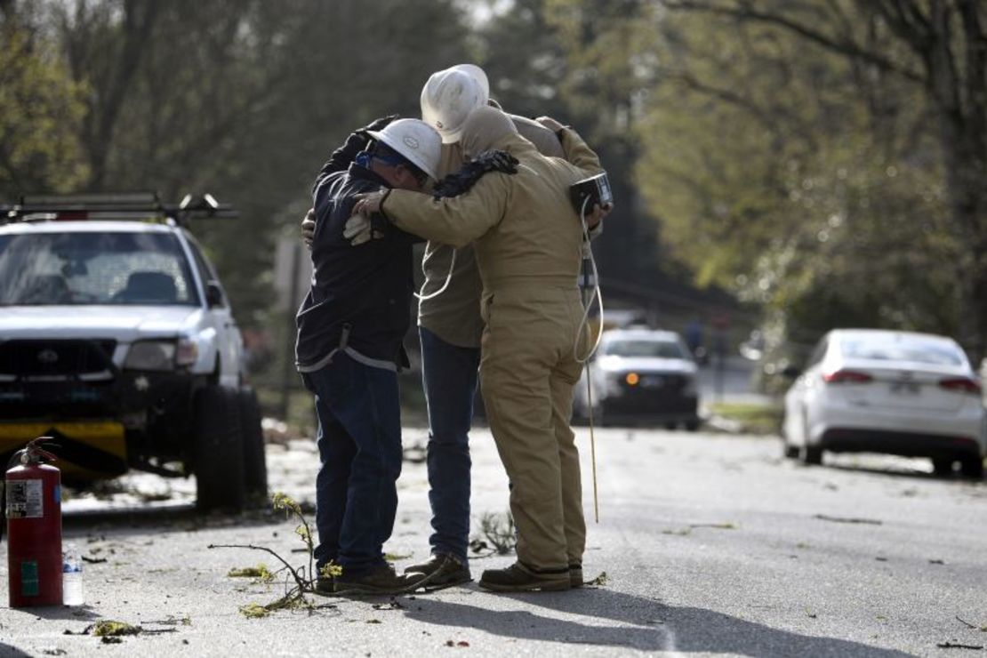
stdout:
{"type": "Polygon", "coordinates": [[[244,505],[244,459],[239,392],[207,386],[195,396],[191,454],[196,506],[240,511],[244,505]]]}

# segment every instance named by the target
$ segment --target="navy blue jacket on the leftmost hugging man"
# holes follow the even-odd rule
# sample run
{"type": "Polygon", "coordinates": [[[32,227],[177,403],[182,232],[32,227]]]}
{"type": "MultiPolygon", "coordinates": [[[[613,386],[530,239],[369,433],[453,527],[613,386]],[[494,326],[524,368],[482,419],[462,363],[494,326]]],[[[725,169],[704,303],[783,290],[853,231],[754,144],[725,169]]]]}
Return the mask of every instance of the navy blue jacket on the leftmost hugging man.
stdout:
{"type": "Polygon", "coordinates": [[[314,270],[296,318],[295,362],[302,371],[325,365],[347,328],[346,345],[360,356],[407,365],[402,339],[411,325],[412,245],[420,239],[382,222],[381,238],[351,246],[342,231],[354,195],[389,185],[359,165],[332,171],[331,163],[315,184],[314,270]]]}

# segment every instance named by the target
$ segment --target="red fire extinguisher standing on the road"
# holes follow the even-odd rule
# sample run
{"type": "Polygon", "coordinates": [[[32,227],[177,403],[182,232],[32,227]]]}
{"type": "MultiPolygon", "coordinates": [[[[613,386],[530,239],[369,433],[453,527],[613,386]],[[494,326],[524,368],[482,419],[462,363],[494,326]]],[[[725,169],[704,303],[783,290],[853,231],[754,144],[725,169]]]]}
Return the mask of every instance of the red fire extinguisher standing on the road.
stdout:
{"type": "Polygon", "coordinates": [[[61,473],[45,462],[42,436],[18,451],[7,471],[7,564],[10,607],[62,603],[61,473]]]}

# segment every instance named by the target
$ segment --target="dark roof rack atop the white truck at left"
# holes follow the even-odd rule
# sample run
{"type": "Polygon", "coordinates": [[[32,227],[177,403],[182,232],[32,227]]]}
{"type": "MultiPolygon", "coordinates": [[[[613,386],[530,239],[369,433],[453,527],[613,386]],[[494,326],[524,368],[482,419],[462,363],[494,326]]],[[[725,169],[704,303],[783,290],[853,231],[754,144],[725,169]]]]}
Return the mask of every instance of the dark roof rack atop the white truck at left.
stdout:
{"type": "Polygon", "coordinates": [[[145,221],[188,226],[191,219],[235,219],[240,213],[209,193],[164,203],[157,192],[28,194],[0,205],[0,224],[32,221],[145,221]]]}

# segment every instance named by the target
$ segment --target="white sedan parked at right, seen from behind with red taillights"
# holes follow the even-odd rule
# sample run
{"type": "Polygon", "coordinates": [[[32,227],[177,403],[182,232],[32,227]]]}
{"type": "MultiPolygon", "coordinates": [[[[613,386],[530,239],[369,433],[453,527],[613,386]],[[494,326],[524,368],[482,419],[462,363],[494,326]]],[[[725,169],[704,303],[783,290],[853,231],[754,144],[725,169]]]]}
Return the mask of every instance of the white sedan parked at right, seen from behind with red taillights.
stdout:
{"type": "Polygon", "coordinates": [[[981,384],[951,338],[834,329],[785,396],[785,454],[821,464],[823,451],[928,457],[938,475],[983,476],[981,384]]]}

